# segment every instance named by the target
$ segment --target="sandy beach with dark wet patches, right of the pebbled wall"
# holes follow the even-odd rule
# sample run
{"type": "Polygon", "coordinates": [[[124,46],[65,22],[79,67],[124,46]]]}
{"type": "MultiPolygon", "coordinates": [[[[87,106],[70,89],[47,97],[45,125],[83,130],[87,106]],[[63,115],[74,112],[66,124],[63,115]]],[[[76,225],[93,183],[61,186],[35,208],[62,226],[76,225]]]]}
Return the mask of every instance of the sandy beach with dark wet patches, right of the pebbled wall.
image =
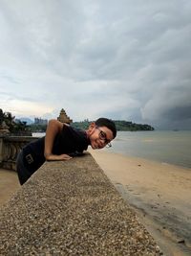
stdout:
{"type": "Polygon", "coordinates": [[[191,255],[191,169],[113,152],[90,152],[165,255],[191,255]]]}

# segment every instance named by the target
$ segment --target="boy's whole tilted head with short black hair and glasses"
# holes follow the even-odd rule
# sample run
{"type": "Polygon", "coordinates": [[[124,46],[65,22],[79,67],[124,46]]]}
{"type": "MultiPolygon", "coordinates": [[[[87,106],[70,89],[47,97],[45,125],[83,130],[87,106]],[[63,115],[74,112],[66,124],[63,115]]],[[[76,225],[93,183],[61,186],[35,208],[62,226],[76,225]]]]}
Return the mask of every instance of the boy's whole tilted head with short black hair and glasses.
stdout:
{"type": "Polygon", "coordinates": [[[111,141],[117,136],[115,123],[107,118],[98,118],[87,130],[92,148],[102,149],[110,146],[111,141]]]}

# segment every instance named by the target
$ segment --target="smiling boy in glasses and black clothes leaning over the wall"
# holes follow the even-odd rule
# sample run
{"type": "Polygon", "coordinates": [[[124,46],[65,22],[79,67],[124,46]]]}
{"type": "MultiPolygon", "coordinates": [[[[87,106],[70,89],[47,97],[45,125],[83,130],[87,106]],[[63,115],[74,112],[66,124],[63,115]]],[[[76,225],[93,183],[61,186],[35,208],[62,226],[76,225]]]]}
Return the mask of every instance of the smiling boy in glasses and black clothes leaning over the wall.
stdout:
{"type": "Polygon", "coordinates": [[[116,137],[115,123],[107,118],[99,118],[87,130],[79,130],[57,120],[50,120],[46,136],[29,143],[18,154],[16,169],[20,184],[47,161],[69,160],[80,155],[91,145],[92,149],[111,147],[116,137]]]}

